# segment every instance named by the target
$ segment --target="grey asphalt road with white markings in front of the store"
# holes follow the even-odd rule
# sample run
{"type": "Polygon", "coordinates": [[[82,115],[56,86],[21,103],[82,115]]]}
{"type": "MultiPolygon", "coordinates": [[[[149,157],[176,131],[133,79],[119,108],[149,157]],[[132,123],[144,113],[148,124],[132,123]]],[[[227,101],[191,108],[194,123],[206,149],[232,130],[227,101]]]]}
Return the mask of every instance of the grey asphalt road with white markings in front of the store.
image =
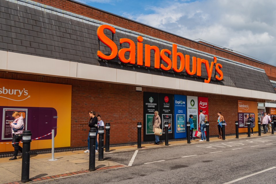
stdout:
{"type": "MultiPolygon", "coordinates": [[[[104,157],[129,165],[134,153],[135,151],[108,153],[104,157]]],[[[275,155],[276,136],[141,149],[130,167],[43,183],[275,184],[275,155]],[[250,174],[252,176],[248,177],[250,174]],[[236,179],[240,180],[233,182],[236,179]]]]}

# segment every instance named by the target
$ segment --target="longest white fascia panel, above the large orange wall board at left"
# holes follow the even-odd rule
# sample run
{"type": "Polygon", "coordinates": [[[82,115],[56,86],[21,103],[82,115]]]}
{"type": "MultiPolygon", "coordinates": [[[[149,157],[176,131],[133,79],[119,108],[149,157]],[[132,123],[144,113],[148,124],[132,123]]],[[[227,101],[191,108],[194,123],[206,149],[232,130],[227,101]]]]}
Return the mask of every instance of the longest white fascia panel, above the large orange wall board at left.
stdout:
{"type": "Polygon", "coordinates": [[[8,52],[7,70],[70,77],[70,62],[8,52]]]}

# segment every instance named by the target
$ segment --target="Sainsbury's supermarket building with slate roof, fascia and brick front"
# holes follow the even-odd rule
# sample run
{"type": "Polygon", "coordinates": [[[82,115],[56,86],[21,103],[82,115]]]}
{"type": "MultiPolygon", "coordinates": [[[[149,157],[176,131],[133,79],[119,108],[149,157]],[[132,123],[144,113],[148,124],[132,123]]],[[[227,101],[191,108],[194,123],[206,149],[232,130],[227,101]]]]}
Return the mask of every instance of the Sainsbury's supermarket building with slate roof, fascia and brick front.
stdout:
{"type": "MultiPolygon", "coordinates": [[[[258,116],[257,103],[276,99],[264,69],[244,64],[252,62],[248,58],[230,57],[170,33],[161,38],[164,31],[157,29],[156,37],[126,29],[134,23],[141,29],[154,28],[107,12],[103,14],[117,17],[113,24],[104,15],[96,20],[42,3],[0,2],[5,15],[0,29],[5,37],[0,40],[1,143],[10,142],[4,122],[12,120],[7,116],[14,109],[24,113],[28,130],[36,132],[33,136],[54,128],[55,147],[84,147],[91,110],[111,124],[110,143],[117,144],[136,141],[137,122],[143,122],[143,141],[154,140],[155,110],[162,124],[169,123],[170,139],[186,137],[190,114],[198,126],[200,109],[210,122],[210,135],[218,134],[219,111],[227,122],[226,134],[235,133],[235,121],[239,132],[246,132],[248,116],[258,116]],[[188,41],[194,46],[186,46],[188,41]],[[9,94],[11,90],[18,93],[9,94]],[[28,91],[26,99],[18,96],[22,90],[28,91]],[[67,141],[60,139],[64,135],[67,141]]],[[[32,149],[49,148],[49,142],[32,141],[32,149]]],[[[0,151],[12,147],[0,144],[0,151]]]]}

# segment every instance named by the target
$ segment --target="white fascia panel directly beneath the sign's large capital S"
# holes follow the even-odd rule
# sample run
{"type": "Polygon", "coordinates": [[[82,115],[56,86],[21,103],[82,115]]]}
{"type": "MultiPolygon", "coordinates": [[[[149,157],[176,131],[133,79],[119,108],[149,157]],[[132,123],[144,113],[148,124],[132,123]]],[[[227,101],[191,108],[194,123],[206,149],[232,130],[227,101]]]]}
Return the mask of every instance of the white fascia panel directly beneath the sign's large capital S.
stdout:
{"type": "Polygon", "coordinates": [[[78,63],[77,78],[116,82],[116,69],[78,63]]]}

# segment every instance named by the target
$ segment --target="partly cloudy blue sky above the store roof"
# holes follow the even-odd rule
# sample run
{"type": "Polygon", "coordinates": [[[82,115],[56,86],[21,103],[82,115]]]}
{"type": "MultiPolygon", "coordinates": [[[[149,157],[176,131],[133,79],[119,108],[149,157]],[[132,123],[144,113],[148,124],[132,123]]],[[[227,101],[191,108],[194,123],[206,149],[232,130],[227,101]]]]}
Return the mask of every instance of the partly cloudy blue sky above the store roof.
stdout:
{"type": "Polygon", "coordinates": [[[276,66],[275,0],[78,0],[276,66]]]}

